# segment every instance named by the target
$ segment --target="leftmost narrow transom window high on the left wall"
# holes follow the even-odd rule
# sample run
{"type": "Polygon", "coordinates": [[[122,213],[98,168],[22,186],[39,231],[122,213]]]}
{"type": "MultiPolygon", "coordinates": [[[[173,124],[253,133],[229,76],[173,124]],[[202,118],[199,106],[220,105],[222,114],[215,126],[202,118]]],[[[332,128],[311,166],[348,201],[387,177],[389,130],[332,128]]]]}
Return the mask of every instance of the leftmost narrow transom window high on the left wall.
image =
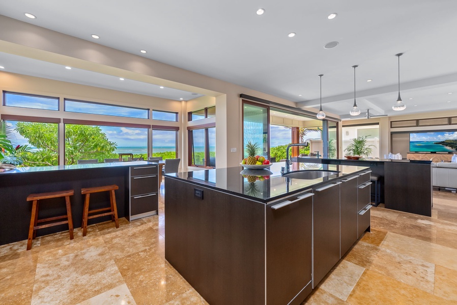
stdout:
{"type": "Polygon", "coordinates": [[[4,92],[3,100],[5,106],[59,110],[59,98],[4,92]]]}

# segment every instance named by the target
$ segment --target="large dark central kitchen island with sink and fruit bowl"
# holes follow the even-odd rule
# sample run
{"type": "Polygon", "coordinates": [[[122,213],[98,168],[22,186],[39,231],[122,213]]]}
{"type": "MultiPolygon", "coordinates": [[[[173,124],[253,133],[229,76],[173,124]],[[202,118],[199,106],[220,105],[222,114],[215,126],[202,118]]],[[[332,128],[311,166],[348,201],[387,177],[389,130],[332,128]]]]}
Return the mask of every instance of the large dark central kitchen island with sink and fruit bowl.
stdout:
{"type": "Polygon", "coordinates": [[[369,168],[281,166],[165,174],[165,259],[210,304],[300,304],[369,230],[369,168]]]}

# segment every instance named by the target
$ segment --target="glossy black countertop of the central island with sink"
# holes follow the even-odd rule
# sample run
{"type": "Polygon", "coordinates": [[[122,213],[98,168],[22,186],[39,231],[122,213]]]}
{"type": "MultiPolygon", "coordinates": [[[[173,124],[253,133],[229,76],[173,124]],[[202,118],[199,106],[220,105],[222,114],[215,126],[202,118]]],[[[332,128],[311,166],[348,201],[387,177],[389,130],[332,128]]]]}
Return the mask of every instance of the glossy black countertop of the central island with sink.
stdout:
{"type": "Polygon", "coordinates": [[[288,182],[285,177],[281,176],[280,171],[283,166],[285,166],[285,162],[277,162],[273,163],[269,169],[254,170],[253,172],[246,171],[241,166],[237,166],[165,174],[165,176],[267,203],[369,169],[369,167],[364,166],[293,163],[291,165],[291,171],[325,169],[338,171],[338,173],[312,180],[289,179],[288,182]]]}

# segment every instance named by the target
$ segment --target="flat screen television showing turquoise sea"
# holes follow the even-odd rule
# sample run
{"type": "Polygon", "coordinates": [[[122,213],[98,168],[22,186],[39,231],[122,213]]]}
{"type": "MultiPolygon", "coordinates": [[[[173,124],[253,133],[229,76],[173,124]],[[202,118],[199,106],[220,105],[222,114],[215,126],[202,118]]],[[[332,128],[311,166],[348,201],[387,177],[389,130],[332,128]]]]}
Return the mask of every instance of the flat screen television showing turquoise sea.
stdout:
{"type": "Polygon", "coordinates": [[[456,153],[457,131],[410,133],[411,152],[456,153]]]}

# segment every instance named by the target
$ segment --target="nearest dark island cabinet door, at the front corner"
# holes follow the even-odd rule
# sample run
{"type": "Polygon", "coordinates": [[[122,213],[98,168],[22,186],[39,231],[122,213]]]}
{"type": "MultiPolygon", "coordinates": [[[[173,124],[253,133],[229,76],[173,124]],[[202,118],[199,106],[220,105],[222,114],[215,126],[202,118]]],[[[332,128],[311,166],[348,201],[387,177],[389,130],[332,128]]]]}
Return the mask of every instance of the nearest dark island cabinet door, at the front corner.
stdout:
{"type": "Polygon", "coordinates": [[[267,205],[267,304],[289,304],[311,281],[312,196],[267,205]]]}

